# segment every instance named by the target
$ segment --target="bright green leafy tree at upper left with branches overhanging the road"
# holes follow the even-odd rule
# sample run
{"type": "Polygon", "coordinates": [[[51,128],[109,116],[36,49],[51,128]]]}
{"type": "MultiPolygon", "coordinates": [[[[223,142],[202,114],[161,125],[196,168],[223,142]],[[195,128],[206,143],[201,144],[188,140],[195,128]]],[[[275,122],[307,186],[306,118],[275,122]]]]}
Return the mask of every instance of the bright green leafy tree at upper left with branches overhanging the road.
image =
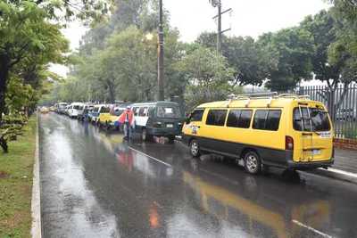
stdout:
{"type": "Polygon", "coordinates": [[[12,78],[41,86],[39,79],[46,75],[46,65],[63,62],[68,43],[62,37],[62,26],[54,22],[75,17],[97,21],[109,6],[104,0],[0,2],[0,121],[12,78]]]}

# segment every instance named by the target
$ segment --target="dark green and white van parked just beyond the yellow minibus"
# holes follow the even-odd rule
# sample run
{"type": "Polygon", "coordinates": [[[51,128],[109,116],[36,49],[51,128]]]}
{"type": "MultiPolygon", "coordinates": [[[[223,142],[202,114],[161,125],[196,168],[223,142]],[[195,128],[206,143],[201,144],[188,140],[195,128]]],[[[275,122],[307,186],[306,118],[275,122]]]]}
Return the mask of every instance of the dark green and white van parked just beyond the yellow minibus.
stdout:
{"type": "Polygon", "coordinates": [[[155,135],[168,137],[170,143],[173,143],[175,136],[180,135],[184,118],[179,110],[179,103],[133,103],[131,108],[136,132],[141,133],[143,141],[155,135]]]}

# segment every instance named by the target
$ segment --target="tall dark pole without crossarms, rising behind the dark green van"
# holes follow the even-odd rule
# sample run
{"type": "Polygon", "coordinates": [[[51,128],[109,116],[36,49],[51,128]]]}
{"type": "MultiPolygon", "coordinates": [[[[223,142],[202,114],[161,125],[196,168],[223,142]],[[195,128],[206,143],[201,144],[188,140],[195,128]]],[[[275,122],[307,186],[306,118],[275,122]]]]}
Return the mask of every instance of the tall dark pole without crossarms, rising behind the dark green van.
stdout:
{"type": "Polygon", "coordinates": [[[157,57],[157,84],[159,86],[159,94],[158,100],[164,101],[164,91],[163,91],[163,12],[162,12],[162,0],[159,1],[159,9],[160,9],[160,16],[159,16],[159,45],[158,45],[158,57],[157,57]]]}

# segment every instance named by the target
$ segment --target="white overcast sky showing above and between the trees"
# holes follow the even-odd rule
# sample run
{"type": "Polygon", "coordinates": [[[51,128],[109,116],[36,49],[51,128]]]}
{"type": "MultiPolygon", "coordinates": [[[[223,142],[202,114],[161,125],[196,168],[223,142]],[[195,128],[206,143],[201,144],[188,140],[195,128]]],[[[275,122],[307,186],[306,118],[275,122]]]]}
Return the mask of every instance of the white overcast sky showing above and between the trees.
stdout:
{"type": "MultiPolygon", "coordinates": [[[[222,19],[222,29],[231,28],[228,36],[258,37],[264,32],[276,31],[297,25],[307,15],[327,9],[323,0],[221,0],[222,10],[232,8],[222,19]]],[[[170,12],[170,24],[179,29],[182,41],[191,42],[203,31],[217,29],[212,17],[217,9],[209,0],[163,0],[170,12]]],[[[72,23],[63,34],[70,39],[71,49],[79,47],[79,39],[86,32],[79,23],[72,23]]],[[[65,76],[65,67],[53,70],[65,76]]]]}

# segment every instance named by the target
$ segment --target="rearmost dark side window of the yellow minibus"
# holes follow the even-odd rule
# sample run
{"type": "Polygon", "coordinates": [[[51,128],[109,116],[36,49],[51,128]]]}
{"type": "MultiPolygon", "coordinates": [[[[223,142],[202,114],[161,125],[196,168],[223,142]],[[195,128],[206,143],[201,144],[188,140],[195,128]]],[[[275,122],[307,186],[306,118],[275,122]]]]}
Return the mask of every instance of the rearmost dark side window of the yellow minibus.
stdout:
{"type": "Polygon", "coordinates": [[[280,110],[257,110],[255,111],[253,128],[259,130],[278,130],[280,110]]]}

